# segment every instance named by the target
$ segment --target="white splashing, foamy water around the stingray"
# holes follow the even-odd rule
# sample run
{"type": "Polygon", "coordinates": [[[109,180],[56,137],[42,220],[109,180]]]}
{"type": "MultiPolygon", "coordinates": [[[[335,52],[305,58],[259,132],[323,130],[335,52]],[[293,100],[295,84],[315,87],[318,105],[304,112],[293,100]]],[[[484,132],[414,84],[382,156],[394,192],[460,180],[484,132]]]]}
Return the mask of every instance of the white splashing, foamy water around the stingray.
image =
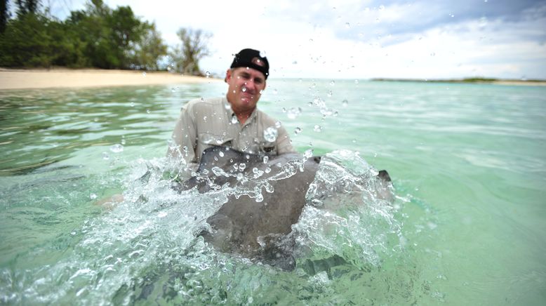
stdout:
{"type": "MultiPolygon", "coordinates": [[[[86,220],[74,233],[79,241],[58,261],[26,270],[2,269],[1,300],[34,304],[70,303],[77,298],[84,305],[138,300],[274,302],[286,301],[278,292],[288,284],[298,288],[298,294],[307,292],[311,300],[320,300],[331,291],[327,289],[335,277],[331,269],[378,267],[399,246],[397,239],[391,239],[400,236],[392,206],[369,190],[369,179],[377,171],[354,152],[333,152],[321,162],[307,194],[309,204],[293,227],[298,244],[295,272],[220,253],[198,236],[210,227],[206,218],[229,194],[256,197],[255,188],[178,193],[171,188],[164,164],[164,159],[135,162],[125,182],[125,200],[86,220]],[[137,179],[144,173],[146,180],[137,179]],[[317,199],[324,205],[314,206],[317,199]]],[[[285,171],[272,179],[305,171],[300,166],[283,165],[285,171]]],[[[251,185],[259,180],[248,178],[251,185]]],[[[18,260],[32,260],[32,254],[18,260]]]]}

